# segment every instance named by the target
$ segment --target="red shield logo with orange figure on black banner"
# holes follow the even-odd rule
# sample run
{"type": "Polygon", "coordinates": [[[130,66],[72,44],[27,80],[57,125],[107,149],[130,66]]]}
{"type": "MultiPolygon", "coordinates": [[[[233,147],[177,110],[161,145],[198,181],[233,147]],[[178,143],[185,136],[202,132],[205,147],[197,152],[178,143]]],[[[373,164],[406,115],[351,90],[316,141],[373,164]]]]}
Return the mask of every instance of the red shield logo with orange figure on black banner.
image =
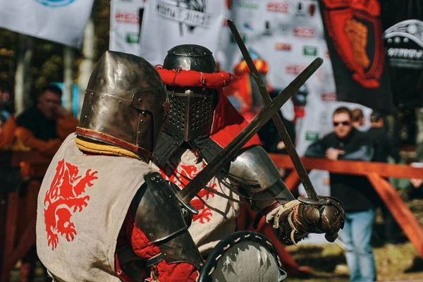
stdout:
{"type": "Polygon", "coordinates": [[[360,85],[366,88],[379,87],[384,70],[379,2],[323,2],[326,6],[324,20],[328,34],[343,63],[360,85]]]}

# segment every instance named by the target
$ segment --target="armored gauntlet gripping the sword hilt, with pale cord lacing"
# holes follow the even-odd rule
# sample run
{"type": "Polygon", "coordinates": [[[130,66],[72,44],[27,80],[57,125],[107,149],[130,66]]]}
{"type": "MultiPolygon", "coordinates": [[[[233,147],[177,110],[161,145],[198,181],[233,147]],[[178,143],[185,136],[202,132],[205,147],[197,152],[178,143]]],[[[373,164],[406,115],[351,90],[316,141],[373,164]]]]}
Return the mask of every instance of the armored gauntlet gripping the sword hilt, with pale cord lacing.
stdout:
{"type": "Polygon", "coordinates": [[[308,233],[324,233],[326,240],[333,242],[343,228],[345,211],[334,197],[321,207],[290,201],[266,215],[266,221],[274,228],[276,237],[286,245],[296,244],[308,233]]]}

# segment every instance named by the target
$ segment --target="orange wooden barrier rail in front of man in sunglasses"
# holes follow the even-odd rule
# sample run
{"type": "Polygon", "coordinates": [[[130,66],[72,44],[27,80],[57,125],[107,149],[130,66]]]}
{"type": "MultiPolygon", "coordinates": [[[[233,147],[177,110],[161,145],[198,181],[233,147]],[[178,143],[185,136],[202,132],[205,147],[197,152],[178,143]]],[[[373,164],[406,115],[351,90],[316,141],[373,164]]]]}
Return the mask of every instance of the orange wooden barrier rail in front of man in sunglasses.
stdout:
{"type": "MultiPolygon", "coordinates": [[[[294,168],[288,155],[269,154],[276,166],[280,168],[294,168]]],[[[374,190],[384,201],[386,207],[403,229],[408,240],[415,246],[420,257],[423,257],[423,229],[414,214],[401,199],[395,188],[384,178],[420,178],[423,179],[423,168],[413,168],[400,164],[371,163],[367,161],[331,161],[329,159],[302,158],[307,171],[319,169],[330,173],[367,176],[374,190]]],[[[294,190],[300,184],[296,171],[290,173],[285,184],[294,190]]]]}

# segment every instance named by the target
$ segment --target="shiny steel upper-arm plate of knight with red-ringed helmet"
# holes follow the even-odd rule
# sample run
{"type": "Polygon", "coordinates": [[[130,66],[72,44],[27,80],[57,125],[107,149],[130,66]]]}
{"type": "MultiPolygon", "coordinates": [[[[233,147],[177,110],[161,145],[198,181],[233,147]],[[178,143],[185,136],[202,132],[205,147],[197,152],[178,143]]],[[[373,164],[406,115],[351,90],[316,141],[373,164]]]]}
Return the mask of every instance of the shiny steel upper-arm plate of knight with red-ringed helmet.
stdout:
{"type": "Polygon", "coordinates": [[[295,200],[281,180],[281,173],[260,146],[247,148],[231,162],[229,173],[233,184],[243,187],[250,208],[255,211],[274,209],[295,200]]]}

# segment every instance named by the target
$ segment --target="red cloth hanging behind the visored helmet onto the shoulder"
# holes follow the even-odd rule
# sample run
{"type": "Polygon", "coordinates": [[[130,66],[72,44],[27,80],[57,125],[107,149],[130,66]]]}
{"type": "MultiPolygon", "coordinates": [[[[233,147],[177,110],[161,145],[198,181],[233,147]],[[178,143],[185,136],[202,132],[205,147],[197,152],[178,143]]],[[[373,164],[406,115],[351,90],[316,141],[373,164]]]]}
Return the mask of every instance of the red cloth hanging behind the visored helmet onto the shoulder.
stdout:
{"type": "MultiPolygon", "coordinates": [[[[228,146],[229,142],[231,142],[247,125],[248,122],[245,121],[245,118],[238,113],[231,102],[229,102],[228,98],[223,95],[223,90],[220,90],[219,102],[214,110],[210,138],[220,147],[224,148],[228,146]]],[[[255,134],[243,148],[253,145],[262,145],[257,134],[255,134]]]]}

